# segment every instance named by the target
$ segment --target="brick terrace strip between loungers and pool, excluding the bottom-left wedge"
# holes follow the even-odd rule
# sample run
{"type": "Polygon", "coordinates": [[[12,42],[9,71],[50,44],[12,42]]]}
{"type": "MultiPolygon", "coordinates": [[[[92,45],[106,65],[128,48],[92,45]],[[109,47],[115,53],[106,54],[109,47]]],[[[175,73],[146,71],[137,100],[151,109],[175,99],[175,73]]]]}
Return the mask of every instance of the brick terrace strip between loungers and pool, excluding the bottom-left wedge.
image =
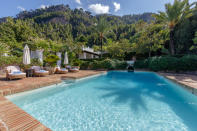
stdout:
{"type": "Polygon", "coordinates": [[[77,73],[54,74],[46,77],[29,77],[19,80],[7,81],[5,75],[0,76],[0,96],[6,96],[48,85],[60,83],[62,80],[71,78],[77,79],[90,75],[104,73],[104,71],[81,70],[77,73]]]}

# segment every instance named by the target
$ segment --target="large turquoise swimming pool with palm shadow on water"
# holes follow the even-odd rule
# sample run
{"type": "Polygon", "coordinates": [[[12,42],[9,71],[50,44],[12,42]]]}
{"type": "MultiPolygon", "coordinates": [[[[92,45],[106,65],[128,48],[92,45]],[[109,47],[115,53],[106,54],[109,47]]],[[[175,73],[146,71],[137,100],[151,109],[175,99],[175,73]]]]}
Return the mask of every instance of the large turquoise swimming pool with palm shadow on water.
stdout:
{"type": "Polygon", "coordinates": [[[111,71],[8,99],[54,131],[197,130],[197,97],[150,72],[111,71]]]}

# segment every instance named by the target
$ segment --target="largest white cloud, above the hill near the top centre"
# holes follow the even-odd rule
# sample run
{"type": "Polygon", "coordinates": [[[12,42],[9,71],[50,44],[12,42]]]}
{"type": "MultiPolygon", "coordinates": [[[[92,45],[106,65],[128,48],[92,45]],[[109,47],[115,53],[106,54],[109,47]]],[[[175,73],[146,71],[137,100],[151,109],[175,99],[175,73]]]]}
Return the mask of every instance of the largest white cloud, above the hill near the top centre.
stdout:
{"type": "Polygon", "coordinates": [[[107,14],[109,13],[109,6],[102,4],[89,5],[89,9],[95,14],[107,14]]]}

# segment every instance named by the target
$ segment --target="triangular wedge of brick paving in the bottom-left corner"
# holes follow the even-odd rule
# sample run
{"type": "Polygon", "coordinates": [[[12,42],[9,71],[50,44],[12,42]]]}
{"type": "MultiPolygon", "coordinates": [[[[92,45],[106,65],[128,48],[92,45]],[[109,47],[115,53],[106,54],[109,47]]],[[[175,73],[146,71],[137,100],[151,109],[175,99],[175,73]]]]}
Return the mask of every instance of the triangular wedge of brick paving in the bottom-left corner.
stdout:
{"type": "Polygon", "coordinates": [[[50,129],[5,97],[0,97],[0,131],[50,131],[50,129]]]}

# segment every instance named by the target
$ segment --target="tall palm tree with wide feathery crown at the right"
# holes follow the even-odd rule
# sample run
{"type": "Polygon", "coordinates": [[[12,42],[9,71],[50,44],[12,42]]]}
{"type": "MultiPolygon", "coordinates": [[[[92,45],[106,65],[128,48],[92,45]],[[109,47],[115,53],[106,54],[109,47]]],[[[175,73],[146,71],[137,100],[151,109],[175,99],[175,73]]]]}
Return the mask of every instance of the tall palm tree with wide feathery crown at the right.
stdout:
{"type": "Polygon", "coordinates": [[[156,21],[161,22],[170,31],[170,52],[171,55],[175,54],[174,46],[174,31],[175,27],[192,16],[192,7],[189,5],[189,0],[174,0],[174,3],[165,4],[165,12],[159,12],[159,14],[153,15],[156,21]]]}

